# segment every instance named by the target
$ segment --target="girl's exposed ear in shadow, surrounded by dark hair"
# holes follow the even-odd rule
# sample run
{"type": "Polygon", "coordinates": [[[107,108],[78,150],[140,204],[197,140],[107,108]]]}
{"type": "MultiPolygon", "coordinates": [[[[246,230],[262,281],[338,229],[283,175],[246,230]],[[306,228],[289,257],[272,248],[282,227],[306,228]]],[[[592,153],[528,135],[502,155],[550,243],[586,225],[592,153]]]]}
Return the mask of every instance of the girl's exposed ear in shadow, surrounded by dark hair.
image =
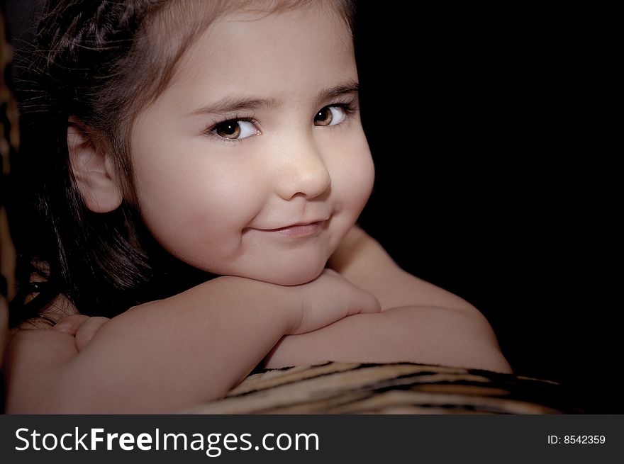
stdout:
{"type": "Polygon", "coordinates": [[[110,157],[99,149],[88,128],[74,118],[67,123],[69,162],[84,204],[95,213],[108,213],[121,205],[110,157]]]}

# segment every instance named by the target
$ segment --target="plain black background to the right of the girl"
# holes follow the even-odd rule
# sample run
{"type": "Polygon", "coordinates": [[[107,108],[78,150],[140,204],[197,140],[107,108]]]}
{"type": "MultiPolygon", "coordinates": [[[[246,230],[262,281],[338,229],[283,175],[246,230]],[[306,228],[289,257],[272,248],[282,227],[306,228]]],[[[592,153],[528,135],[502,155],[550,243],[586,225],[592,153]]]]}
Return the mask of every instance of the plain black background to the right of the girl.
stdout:
{"type": "Polygon", "coordinates": [[[593,30],[561,11],[386,5],[358,4],[377,170],[360,224],[401,267],[478,307],[515,373],[623,412],[621,207],[593,30]]]}

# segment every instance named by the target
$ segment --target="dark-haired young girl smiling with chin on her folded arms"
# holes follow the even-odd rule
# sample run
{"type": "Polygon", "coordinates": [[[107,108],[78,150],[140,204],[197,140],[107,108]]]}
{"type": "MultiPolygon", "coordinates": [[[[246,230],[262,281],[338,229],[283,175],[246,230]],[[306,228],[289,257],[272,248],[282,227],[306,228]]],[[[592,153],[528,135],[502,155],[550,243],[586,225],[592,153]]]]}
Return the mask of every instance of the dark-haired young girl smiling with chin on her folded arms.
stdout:
{"type": "Polygon", "coordinates": [[[52,3],[21,76],[40,282],[7,412],[176,412],[323,360],[509,371],[478,310],[355,226],[350,1],[52,3]]]}

